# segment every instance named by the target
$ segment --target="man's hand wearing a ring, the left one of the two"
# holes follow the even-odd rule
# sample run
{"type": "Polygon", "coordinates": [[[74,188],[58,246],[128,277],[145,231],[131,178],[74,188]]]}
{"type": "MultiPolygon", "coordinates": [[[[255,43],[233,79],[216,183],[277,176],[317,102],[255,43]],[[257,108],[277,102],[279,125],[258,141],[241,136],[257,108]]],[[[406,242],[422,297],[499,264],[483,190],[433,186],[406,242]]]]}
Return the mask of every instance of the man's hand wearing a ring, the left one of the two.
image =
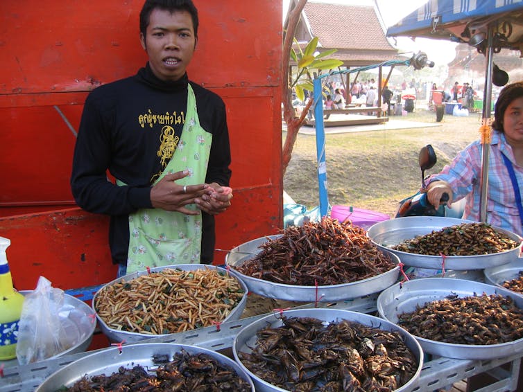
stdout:
{"type": "Polygon", "coordinates": [[[151,204],[154,208],[165,211],[178,211],[186,215],[198,215],[198,211],[189,210],[185,206],[194,204],[197,197],[205,194],[207,184],[187,185],[176,184],[176,180],[189,175],[189,171],[175,172],[165,175],[151,188],[151,204]]]}

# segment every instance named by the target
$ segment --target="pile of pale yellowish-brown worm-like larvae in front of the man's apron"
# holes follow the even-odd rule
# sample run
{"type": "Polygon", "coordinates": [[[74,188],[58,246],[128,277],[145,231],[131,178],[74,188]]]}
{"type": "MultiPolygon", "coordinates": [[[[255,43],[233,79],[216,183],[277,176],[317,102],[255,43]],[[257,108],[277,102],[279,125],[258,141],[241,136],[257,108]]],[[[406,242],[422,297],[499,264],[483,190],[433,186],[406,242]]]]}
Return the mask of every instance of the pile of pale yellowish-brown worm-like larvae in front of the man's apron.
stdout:
{"type": "Polygon", "coordinates": [[[109,328],[161,335],[221,322],[244,294],[223,271],[166,268],[102,287],[94,308],[109,328]]]}

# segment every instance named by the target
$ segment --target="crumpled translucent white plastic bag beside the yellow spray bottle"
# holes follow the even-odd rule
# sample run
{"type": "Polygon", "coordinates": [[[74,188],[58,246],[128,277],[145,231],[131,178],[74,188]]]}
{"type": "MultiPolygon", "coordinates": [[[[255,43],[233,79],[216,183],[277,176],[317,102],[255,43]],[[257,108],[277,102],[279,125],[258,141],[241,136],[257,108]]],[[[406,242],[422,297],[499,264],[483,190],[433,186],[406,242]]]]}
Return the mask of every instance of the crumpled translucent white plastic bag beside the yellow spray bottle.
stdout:
{"type": "Polygon", "coordinates": [[[36,289],[27,294],[18,326],[17,359],[19,364],[43,361],[74,344],[77,337],[67,336],[60,322],[64,302],[62,289],[40,276],[36,289]]]}

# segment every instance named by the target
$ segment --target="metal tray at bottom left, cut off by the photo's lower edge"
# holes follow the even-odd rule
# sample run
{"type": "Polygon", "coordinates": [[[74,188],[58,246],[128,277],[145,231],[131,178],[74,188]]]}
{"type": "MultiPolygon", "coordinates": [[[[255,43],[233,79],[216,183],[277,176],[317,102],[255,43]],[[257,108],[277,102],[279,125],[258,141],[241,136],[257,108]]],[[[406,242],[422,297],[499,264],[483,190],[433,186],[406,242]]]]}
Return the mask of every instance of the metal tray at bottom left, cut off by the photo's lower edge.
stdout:
{"type": "Polygon", "coordinates": [[[84,375],[94,376],[103,373],[110,375],[117,372],[120,366],[132,368],[132,366],[141,365],[152,372],[157,368],[157,365],[153,363],[153,355],[169,355],[172,358],[175,353],[179,353],[182,349],[191,355],[198,353],[210,355],[221,364],[226,364],[234,368],[234,371],[237,372],[239,377],[250,384],[252,392],[255,392],[254,384],[252,380],[250,380],[250,377],[243,371],[243,368],[232,359],[216,353],[216,351],[208,350],[207,348],[170,343],[131,344],[129,346],[123,346],[121,352],[119,348],[116,347],[98,351],[97,353],[77,359],[71,362],[71,364],[60,368],[60,370],[47,377],[46,380],[38,386],[35,392],[55,392],[62,386],[73,385],[84,375]]]}

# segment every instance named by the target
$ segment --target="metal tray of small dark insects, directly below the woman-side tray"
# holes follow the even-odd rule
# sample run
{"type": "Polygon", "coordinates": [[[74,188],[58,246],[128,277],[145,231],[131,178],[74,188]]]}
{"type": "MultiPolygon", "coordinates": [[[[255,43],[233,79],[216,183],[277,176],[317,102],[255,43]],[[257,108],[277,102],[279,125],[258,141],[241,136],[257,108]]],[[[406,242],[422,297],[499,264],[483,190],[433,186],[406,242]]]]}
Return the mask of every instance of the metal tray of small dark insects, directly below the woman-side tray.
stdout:
{"type": "MultiPolygon", "coordinates": [[[[523,308],[523,296],[501,287],[473,282],[472,280],[449,278],[422,278],[397,283],[378,296],[377,310],[384,319],[397,323],[399,315],[413,312],[416,306],[445,299],[449,295],[460,298],[474,294],[499,294],[511,296],[518,308],[523,308]]],[[[508,357],[523,350],[523,338],[502,344],[468,345],[452,344],[415,337],[425,353],[456,359],[495,359],[508,357]]]]}

